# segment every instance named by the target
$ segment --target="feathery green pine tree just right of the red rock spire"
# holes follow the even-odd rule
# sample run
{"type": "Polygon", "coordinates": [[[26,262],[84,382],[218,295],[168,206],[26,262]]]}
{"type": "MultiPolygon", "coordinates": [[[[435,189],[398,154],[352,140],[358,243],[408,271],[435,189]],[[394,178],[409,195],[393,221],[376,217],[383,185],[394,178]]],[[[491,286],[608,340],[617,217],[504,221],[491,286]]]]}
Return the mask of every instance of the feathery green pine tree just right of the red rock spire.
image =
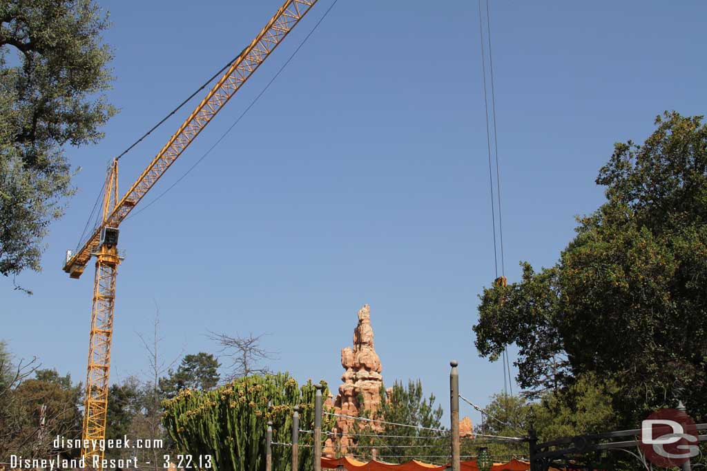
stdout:
{"type": "Polygon", "coordinates": [[[380,388],[380,398],[380,408],[375,417],[368,411],[364,411],[362,417],[423,428],[383,424],[385,429],[376,432],[367,422],[356,422],[361,424],[354,430],[354,433],[362,435],[357,437],[360,448],[353,446],[347,450],[348,453],[354,453],[357,459],[370,459],[370,447],[375,447],[380,459],[389,463],[404,463],[412,459],[446,462],[445,458],[438,458],[447,456],[450,450],[450,440],[441,422],[443,410],[435,404],[433,394],[424,397],[420,380],[408,381],[407,388],[398,381],[390,391],[380,388]]]}

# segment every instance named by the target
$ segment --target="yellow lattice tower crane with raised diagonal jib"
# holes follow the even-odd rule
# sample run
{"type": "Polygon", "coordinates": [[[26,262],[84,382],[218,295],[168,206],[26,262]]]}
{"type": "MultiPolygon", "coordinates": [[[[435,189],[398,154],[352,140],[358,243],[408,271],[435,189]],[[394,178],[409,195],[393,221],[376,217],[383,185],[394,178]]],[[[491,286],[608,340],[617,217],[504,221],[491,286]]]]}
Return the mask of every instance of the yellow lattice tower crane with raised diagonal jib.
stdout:
{"type": "MultiPolygon", "coordinates": [[[[120,223],[316,3],[317,0],[286,0],[120,199],[117,159],[108,169],[103,220],[76,254],[67,252],[64,265],[64,271],[71,278],[80,278],[91,256],[96,258],[83,408],[84,440],[105,438],[115,278],[121,260],[117,252],[120,223]]],[[[103,451],[84,448],[81,454],[86,458],[86,465],[93,467],[98,463],[97,467],[102,467],[103,451]]]]}

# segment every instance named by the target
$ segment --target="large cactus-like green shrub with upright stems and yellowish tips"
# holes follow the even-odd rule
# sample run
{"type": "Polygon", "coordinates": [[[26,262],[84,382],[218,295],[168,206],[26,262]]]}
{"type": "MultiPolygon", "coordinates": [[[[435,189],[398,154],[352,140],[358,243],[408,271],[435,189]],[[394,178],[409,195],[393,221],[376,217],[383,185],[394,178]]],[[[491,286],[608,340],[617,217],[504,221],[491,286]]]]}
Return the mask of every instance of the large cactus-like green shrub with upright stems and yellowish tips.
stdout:
{"type": "MultiPolygon", "coordinates": [[[[208,391],[182,390],[164,401],[163,423],[180,452],[212,455],[215,471],[263,471],[267,422],[274,423],[273,441],[290,443],[293,407],[300,407],[300,429],[312,430],[314,400],[312,381],[300,388],[286,373],[245,376],[208,391]]],[[[327,415],[322,422],[323,430],[334,425],[327,415]]],[[[313,469],[312,439],[300,435],[299,471],[313,469]]],[[[291,471],[290,460],[290,447],[273,446],[273,470],[291,471]]]]}

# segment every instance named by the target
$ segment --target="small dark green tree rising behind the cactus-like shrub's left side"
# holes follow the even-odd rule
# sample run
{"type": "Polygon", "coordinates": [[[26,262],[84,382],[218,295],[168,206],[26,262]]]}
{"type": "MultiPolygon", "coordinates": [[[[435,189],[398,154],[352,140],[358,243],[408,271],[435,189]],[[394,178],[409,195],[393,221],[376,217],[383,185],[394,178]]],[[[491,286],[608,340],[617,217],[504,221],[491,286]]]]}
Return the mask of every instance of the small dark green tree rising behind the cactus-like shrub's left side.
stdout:
{"type": "Polygon", "coordinates": [[[218,374],[219,366],[218,360],[211,353],[185,355],[177,371],[170,369],[168,377],[160,379],[160,390],[167,398],[173,398],[182,389],[214,388],[221,378],[218,374]]]}

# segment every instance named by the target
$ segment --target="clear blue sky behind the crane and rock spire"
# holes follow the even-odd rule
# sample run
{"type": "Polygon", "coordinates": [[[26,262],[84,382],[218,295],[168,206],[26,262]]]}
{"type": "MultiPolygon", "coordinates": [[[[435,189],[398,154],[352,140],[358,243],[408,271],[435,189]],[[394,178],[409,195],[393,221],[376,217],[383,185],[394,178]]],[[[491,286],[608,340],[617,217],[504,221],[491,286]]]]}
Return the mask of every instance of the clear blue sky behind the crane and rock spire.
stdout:
{"type": "MultiPolygon", "coordinates": [[[[331,2],[320,0],[155,193],[233,123],[331,2]]],[[[18,357],[84,380],[93,266],[78,281],[61,266],[108,160],[238,54],[280,3],[100,2],[114,23],[110,101],[122,111],[99,145],[68,150],[82,167],[79,193],[52,225],[42,273],[18,278],[35,294],[0,280],[0,338],[18,357]]],[[[704,18],[702,1],[492,1],[509,281],[520,260],[553,264],[574,216],[600,204],[594,179],[614,142],[643,141],[665,109],[705,112],[704,18]]],[[[369,303],[387,383],[421,378],[446,409],[453,358],[468,398],[501,390],[501,365],[478,357],[471,331],[494,278],[480,58],[474,1],[339,1],[221,145],[122,225],[112,380],[146,370],[136,332],[149,335],[156,302],[165,358],[214,352],[207,330],[267,332],[274,369],[337,388],[339,350],[369,303]]],[[[121,160],[122,191],[188,112],[121,160]]]]}

